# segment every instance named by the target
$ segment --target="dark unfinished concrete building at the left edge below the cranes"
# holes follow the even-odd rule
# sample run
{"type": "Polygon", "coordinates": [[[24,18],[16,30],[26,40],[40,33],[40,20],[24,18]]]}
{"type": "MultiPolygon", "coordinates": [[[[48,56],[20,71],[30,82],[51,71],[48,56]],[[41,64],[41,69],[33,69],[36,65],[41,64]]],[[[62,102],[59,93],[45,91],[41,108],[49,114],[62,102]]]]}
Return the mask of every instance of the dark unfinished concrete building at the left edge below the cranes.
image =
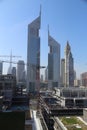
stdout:
{"type": "Polygon", "coordinates": [[[16,77],[8,75],[0,75],[0,95],[3,96],[4,102],[11,103],[16,89],[16,77]]]}

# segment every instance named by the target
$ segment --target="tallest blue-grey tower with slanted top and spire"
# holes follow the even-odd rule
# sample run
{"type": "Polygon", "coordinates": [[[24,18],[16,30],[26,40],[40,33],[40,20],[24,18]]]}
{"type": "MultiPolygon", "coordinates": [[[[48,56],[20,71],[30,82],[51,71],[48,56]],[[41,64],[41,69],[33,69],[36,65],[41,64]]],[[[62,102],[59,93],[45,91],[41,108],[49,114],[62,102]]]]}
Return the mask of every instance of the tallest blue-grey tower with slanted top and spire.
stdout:
{"type": "Polygon", "coordinates": [[[37,91],[40,80],[40,15],[28,25],[27,93],[37,91]]]}

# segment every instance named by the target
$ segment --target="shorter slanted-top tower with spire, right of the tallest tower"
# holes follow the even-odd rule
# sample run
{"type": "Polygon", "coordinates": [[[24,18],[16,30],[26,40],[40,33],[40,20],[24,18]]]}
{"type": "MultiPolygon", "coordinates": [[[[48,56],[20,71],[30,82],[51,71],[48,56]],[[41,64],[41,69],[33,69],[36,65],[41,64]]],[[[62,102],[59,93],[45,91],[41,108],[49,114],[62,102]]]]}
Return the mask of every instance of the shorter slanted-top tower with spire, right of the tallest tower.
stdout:
{"type": "Polygon", "coordinates": [[[60,44],[48,31],[48,88],[60,86],[60,44]]]}

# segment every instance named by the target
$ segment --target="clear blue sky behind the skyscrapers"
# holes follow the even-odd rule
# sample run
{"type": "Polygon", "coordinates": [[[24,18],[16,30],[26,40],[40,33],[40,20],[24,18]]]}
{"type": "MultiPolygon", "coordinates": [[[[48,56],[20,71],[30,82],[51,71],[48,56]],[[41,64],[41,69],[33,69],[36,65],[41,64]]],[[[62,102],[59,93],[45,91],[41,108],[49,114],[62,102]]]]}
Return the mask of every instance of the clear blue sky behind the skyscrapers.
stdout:
{"type": "MultiPolygon", "coordinates": [[[[41,15],[41,65],[48,63],[47,26],[50,35],[61,45],[61,58],[67,40],[79,76],[87,71],[87,2],[86,0],[0,0],[0,55],[27,57],[27,26],[41,15]]],[[[0,58],[9,60],[8,58],[0,58]]],[[[13,59],[18,61],[19,58],[13,59]]],[[[6,72],[8,64],[4,64],[6,72]]]]}

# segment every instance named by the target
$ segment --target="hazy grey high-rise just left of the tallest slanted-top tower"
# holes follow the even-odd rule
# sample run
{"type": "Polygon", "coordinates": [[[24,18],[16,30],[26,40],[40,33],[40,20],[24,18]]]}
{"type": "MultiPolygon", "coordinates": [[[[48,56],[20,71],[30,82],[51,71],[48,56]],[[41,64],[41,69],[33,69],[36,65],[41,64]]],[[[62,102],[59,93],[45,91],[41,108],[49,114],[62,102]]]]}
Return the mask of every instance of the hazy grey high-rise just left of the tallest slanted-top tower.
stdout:
{"type": "Polygon", "coordinates": [[[25,71],[25,63],[23,60],[19,60],[17,63],[17,82],[23,82],[24,71],[25,71]]]}

